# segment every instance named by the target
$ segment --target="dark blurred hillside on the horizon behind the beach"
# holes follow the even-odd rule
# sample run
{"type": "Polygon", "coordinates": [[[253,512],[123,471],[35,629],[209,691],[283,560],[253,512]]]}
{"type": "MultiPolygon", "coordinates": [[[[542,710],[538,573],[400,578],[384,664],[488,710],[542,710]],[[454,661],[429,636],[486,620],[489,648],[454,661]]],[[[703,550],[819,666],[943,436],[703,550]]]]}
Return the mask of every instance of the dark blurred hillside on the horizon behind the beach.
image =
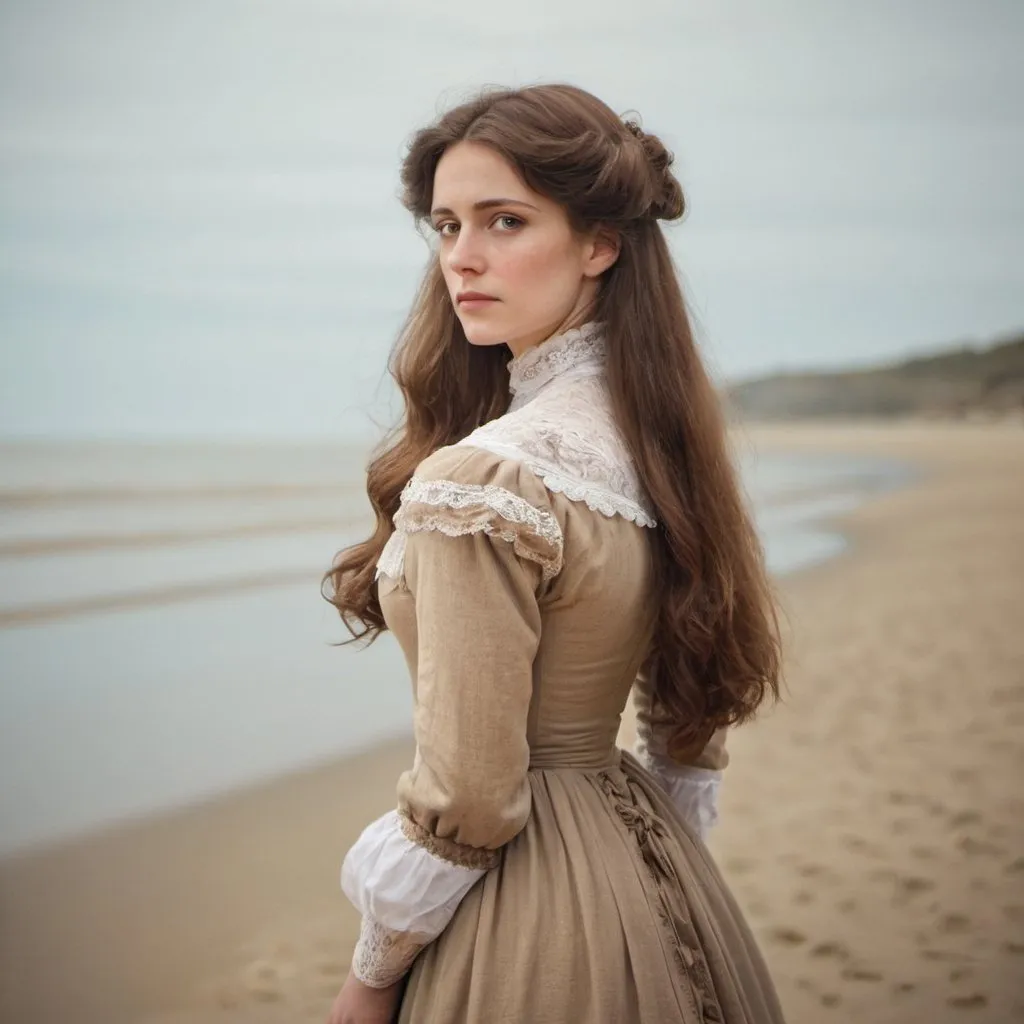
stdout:
{"type": "Polygon", "coordinates": [[[845,373],[778,374],[726,389],[750,420],[805,417],[1024,418],[1024,333],[986,348],[964,347],[845,373]]]}

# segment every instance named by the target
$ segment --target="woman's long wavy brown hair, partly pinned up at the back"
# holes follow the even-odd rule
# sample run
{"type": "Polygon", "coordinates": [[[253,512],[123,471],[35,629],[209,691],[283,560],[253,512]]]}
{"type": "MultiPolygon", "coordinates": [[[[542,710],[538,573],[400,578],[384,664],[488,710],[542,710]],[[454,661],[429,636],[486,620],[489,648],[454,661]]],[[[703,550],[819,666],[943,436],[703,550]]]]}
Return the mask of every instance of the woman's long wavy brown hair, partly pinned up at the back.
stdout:
{"type": "MultiPolygon", "coordinates": [[[[613,230],[618,258],[602,275],[594,319],[606,325],[612,409],[658,525],[660,600],[646,671],[677,756],[778,695],[778,621],[763,551],[729,456],[718,394],[693,340],[658,220],[685,212],[660,140],[582,89],[489,89],[412,139],[402,202],[429,217],[434,170],[449,146],[492,146],[572,227],[613,230]]],[[[402,487],[432,452],[508,408],[509,353],[466,340],[432,258],[390,360],[404,397],[400,424],[375,453],[367,492],[373,535],[342,551],[325,581],[353,639],[386,630],[375,564],[402,487]]],[[[350,642],[350,641],[349,641],[350,642]]]]}

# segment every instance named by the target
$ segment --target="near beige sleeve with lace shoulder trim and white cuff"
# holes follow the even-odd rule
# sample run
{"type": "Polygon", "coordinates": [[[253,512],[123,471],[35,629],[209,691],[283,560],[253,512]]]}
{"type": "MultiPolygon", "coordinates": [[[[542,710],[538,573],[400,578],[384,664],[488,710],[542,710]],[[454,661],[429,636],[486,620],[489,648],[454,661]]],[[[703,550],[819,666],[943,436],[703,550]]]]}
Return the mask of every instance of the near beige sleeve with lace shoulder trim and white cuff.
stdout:
{"type": "Polygon", "coordinates": [[[562,557],[543,483],[467,447],[419,467],[395,538],[381,564],[415,602],[417,752],[397,809],[342,867],[362,913],[353,970],[377,987],[408,971],[526,823],[539,600],[562,557]]]}

